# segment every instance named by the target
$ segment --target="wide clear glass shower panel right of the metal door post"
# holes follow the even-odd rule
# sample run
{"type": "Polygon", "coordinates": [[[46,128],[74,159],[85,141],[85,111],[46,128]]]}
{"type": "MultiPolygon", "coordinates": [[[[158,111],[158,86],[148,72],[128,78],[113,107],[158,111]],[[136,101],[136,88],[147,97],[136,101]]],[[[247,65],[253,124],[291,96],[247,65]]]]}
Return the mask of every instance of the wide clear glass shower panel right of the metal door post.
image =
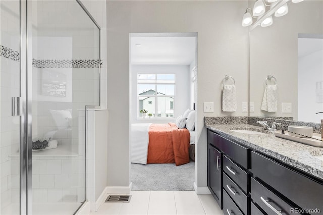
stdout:
{"type": "Polygon", "coordinates": [[[28,3],[32,214],[73,214],[86,197],[85,106],[99,106],[99,28],[77,1],[28,3]]]}

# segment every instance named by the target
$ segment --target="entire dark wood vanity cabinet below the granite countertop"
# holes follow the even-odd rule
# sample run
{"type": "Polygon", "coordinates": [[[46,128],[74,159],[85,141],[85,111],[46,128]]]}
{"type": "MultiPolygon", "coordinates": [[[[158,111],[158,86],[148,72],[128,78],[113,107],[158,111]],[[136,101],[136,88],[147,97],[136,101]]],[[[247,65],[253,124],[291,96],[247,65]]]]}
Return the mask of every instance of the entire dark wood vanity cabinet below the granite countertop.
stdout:
{"type": "Polygon", "coordinates": [[[323,180],[210,129],[207,147],[208,187],[225,214],[323,212],[323,180]]]}

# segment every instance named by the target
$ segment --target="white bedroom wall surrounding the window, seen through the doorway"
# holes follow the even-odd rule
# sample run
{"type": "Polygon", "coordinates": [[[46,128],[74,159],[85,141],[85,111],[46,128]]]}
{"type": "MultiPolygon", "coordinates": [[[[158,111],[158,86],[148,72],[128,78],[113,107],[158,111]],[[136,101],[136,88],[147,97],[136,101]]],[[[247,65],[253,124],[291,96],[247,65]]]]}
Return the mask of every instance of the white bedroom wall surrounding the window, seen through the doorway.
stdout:
{"type": "Polygon", "coordinates": [[[156,123],[168,123],[175,122],[176,117],[183,115],[184,111],[189,108],[189,83],[190,73],[189,66],[175,66],[175,65],[132,65],[132,82],[131,82],[131,123],[143,123],[143,122],[156,122],[156,123]],[[137,73],[175,73],[175,116],[173,119],[142,119],[137,118],[137,73]]]}

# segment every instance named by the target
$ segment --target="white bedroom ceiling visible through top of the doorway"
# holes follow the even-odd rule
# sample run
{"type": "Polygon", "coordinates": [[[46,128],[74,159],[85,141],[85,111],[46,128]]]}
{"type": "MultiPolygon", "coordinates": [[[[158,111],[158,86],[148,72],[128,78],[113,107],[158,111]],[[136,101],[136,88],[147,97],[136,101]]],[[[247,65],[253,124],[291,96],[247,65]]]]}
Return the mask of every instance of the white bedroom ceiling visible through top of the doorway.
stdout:
{"type": "Polygon", "coordinates": [[[196,37],[131,37],[133,65],[190,65],[196,37]]]}

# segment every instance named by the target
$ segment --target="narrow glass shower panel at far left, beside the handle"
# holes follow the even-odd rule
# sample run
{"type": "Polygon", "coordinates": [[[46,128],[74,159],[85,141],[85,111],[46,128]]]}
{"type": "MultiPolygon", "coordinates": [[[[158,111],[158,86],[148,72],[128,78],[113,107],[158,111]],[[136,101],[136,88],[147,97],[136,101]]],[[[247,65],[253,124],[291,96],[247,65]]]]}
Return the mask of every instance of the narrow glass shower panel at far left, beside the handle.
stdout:
{"type": "Polygon", "coordinates": [[[20,1],[0,1],[0,214],[20,213],[20,1]],[[17,101],[17,99],[16,99],[17,101]]]}

